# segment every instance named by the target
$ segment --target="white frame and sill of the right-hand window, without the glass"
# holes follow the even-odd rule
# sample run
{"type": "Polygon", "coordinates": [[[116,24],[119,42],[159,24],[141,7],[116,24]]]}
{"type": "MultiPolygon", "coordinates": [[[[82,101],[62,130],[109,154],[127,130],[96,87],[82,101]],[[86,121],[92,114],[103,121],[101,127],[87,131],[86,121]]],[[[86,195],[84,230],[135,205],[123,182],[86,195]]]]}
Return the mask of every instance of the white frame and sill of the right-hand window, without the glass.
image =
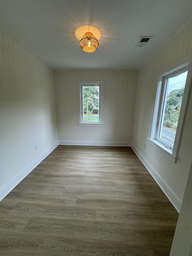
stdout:
{"type": "Polygon", "coordinates": [[[187,101],[189,98],[191,77],[192,77],[192,54],[180,60],[179,62],[176,62],[170,67],[167,67],[163,71],[161,71],[159,75],[159,80],[158,80],[158,89],[157,89],[157,96],[155,101],[155,111],[153,116],[152,132],[151,132],[151,137],[148,138],[148,140],[149,140],[149,144],[151,144],[156,149],[158,149],[158,151],[160,151],[163,155],[167,156],[174,163],[176,162],[176,159],[179,158],[178,156],[179,143],[181,140],[184,117],[187,110],[187,101]],[[168,143],[158,138],[159,129],[157,127],[157,124],[159,123],[160,125],[161,113],[164,107],[164,95],[166,93],[165,82],[167,78],[174,76],[176,74],[179,74],[181,72],[184,72],[186,70],[188,70],[188,72],[187,72],[187,78],[185,82],[179,121],[178,121],[174,145],[171,146],[168,143]],[[170,148],[165,147],[165,144],[168,144],[170,148]]]}

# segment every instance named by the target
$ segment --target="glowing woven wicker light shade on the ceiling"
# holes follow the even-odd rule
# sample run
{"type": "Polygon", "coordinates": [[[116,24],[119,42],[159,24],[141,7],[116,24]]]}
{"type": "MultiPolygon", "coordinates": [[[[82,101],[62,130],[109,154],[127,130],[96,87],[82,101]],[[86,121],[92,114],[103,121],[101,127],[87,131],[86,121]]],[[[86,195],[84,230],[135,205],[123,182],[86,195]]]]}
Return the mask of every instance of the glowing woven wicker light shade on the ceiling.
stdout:
{"type": "Polygon", "coordinates": [[[86,32],[85,35],[81,38],[79,45],[83,51],[92,53],[97,49],[99,42],[91,32],[86,32]]]}

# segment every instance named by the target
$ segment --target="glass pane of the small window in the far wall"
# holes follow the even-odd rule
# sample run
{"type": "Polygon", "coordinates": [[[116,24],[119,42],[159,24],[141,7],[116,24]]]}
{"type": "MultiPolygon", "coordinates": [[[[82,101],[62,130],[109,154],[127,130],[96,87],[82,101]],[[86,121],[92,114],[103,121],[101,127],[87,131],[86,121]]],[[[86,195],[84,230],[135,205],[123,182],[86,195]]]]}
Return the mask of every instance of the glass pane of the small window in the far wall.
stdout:
{"type": "Polygon", "coordinates": [[[82,86],[83,122],[99,122],[99,86],[82,86]]]}

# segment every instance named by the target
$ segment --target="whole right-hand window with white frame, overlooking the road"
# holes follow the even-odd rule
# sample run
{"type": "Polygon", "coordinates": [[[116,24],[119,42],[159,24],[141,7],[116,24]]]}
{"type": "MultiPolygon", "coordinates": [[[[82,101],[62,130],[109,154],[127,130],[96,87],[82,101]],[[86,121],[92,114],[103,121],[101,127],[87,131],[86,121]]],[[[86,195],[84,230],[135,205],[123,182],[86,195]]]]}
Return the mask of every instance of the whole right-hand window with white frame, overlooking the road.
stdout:
{"type": "Polygon", "coordinates": [[[178,158],[179,140],[190,87],[191,74],[188,74],[188,68],[189,62],[169,70],[160,75],[158,82],[149,143],[173,162],[178,158]]]}

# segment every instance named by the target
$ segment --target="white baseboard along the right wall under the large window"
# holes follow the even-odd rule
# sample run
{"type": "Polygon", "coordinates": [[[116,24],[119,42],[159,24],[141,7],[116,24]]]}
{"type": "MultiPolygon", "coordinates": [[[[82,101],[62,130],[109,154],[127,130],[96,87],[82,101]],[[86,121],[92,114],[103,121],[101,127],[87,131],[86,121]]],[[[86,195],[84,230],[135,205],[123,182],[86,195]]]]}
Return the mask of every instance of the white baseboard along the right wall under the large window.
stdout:
{"type": "Polygon", "coordinates": [[[131,144],[131,148],[134,150],[138,158],[145,165],[146,169],[149,171],[151,176],[155,179],[157,184],[160,186],[162,191],[165,193],[167,198],[173,204],[175,209],[180,212],[182,201],[176,196],[176,194],[170,189],[170,187],[164,182],[164,180],[159,176],[159,174],[153,169],[153,167],[149,164],[149,162],[144,158],[144,156],[139,152],[139,150],[131,144]]]}

